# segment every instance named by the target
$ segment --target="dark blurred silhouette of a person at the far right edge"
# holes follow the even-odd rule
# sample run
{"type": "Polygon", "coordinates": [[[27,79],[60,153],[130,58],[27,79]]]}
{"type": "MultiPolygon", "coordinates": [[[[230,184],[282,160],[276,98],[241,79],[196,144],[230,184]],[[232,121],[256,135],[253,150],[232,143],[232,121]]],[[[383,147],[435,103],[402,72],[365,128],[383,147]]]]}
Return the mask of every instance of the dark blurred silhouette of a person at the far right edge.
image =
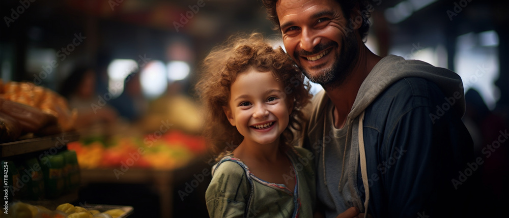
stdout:
{"type": "MultiPolygon", "coordinates": [[[[477,190],[483,208],[502,208],[509,205],[509,139],[504,117],[491,111],[475,88],[465,94],[466,110],[463,120],[474,139],[475,157],[483,164],[478,167],[482,188],[477,190]]],[[[495,217],[496,211],[484,215],[495,217]]]]}

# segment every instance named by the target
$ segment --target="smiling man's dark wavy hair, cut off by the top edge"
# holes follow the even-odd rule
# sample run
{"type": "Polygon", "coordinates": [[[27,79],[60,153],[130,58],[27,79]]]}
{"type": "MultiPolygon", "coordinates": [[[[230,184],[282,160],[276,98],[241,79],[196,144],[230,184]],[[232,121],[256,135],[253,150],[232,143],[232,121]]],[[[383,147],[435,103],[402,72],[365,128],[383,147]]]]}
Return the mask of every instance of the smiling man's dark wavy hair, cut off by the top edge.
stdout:
{"type": "MultiPolygon", "coordinates": [[[[279,29],[279,18],[276,13],[276,5],[279,0],[262,0],[263,5],[267,9],[268,19],[272,21],[274,24],[275,30],[279,29]]],[[[361,12],[362,24],[359,27],[359,35],[362,40],[365,41],[367,37],[367,33],[370,30],[370,21],[371,11],[373,11],[373,6],[367,0],[335,0],[337,3],[341,5],[343,8],[343,14],[345,17],[350,17],[352,9],[354,9],[357,4],[359,5],[359,11],[361,12]]],[[[350,19],[348,19],[350,20],[350,19]]],[[[350,21],[349,21],[350,22],[350,21]]]]}

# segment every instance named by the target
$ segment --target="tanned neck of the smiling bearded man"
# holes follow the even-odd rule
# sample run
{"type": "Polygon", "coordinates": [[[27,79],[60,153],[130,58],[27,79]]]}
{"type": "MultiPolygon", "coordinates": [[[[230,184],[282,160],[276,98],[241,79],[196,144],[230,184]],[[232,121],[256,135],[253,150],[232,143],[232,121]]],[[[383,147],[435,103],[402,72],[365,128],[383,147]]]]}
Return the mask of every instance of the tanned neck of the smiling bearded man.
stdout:
{"type": "Polygon", "coordinates": [[[360,85],[380,59],[382,57],[374,54],[364,43],[361,43],[361,48],[355,59],[356,64],[350,69],[351,72],[343,83],[335,87],[324,87],[325,93],[334,104],[334,127],[343,128],[345,126],[360,85]]]}

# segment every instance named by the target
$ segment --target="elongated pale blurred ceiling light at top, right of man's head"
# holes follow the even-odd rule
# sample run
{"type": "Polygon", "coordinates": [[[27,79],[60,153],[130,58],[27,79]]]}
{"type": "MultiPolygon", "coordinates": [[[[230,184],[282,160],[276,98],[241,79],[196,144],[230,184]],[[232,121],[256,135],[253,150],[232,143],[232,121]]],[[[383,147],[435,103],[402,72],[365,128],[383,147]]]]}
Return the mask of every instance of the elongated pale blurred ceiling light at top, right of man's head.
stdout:
{"type": "Polygon", "coordinates": [[[385,19],[390,23],[399,23],[408,17],[412,16],[412,13],[436,2],[437,0],[407,0],[398,3],[392,8],[387,8],[384,11],[385,19]]]}

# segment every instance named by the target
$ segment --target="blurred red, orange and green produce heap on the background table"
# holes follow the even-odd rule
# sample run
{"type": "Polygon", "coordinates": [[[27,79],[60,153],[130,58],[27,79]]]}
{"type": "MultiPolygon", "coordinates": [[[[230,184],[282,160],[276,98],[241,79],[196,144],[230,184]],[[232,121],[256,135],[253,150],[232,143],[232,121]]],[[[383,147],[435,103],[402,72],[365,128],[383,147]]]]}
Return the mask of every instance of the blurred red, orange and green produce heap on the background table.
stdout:
{"type": "Polygon", "coordinates": [[[145,136],[117,135],[109,140],[80,139],[67,144],[82,169],[120,166],[175,169],[206,151],[205,139],[180,131],[145,136]]]}

